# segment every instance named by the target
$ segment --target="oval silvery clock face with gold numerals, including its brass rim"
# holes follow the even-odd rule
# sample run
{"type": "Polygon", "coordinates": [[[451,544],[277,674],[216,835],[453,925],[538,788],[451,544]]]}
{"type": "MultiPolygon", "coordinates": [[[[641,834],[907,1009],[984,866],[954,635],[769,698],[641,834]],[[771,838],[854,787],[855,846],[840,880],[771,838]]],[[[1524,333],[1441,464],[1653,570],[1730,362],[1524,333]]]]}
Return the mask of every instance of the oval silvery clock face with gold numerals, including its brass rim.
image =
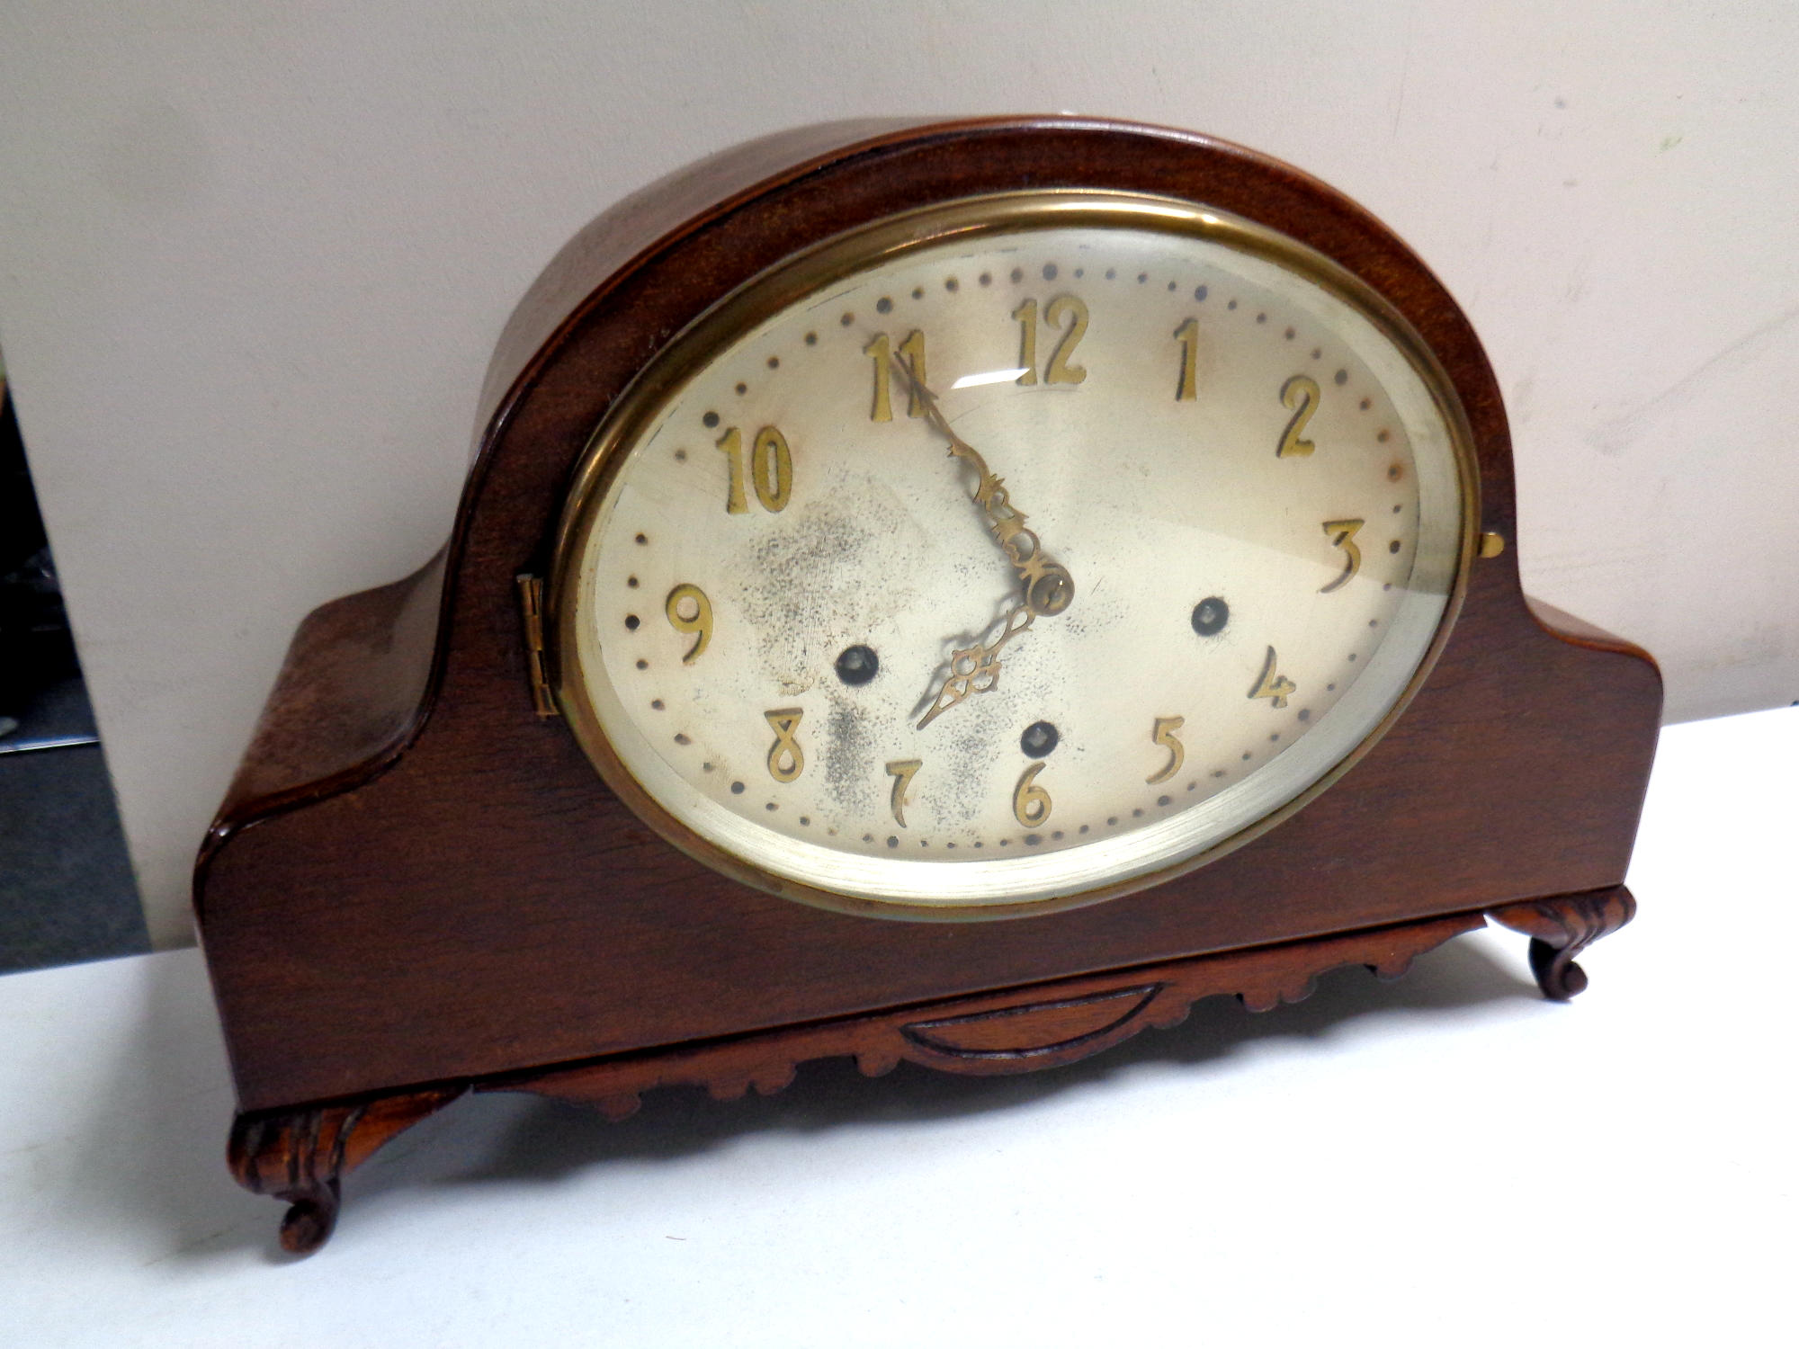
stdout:
{"type": "Polygon", "coordinates": [[[847,236],[595,432],[558,698],[646,818],[768,889],[1130,889],[1290,809],[1416,683],[1472,538],[1446,389],[1346,273],[1191,205],[847,236]]]}

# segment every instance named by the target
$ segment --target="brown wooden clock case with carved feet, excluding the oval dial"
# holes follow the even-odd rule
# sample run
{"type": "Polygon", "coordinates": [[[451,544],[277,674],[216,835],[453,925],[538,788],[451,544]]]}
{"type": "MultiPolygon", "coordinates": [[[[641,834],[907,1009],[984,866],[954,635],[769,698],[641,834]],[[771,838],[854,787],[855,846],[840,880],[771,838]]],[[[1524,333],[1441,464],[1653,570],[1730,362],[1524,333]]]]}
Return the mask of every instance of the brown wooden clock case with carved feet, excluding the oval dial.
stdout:
{"type": "Polygon", "coordinates": [[[1079,119],[835,124],[718,155],[622,201],[545,270],[482,394],[450,543],[311,613],[200,854],[194,903],[237,1086],[230,1164],[286,1200],[290,1250],[340,1176],[471,1090],[624,1117],[658,1085],[718,1097],[855,1056],[952,1072],[1072,1061],[1200,996],[1252,1009],[1317,973],[1383,977],[1493,917],[1549,996],[1623,923],[1660,714],[1639,649],[1533,604],[1499,389],[1461,309],[1367,212],[1187,133],[1079,119]],[[572,469],[631,376],[801,246],[926,201],[1022,187],[1205,201],[1290,234],[1430,344],[1479,455],[1459,619],[1391,730],[1277,827],[1177,880],[988,923],[793,903],[666,844],[540,716],[543,576],[572,469]]]}

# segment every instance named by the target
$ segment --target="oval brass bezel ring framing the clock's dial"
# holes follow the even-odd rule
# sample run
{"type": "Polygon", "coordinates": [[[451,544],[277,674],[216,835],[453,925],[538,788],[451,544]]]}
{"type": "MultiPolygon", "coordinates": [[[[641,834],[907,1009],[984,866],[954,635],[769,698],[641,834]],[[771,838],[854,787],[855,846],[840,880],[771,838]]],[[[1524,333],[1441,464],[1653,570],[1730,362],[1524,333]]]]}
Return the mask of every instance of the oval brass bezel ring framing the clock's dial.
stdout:
{"type": "Polygon", "coordinates": [[[1196,201],[1151,192],[1097,189],[988,192],[889,216],[802,248],[721,297],[644,363],[588,439],[563,505],[545,601],[549,619],[545,622],[549,676],[563,718],[568,721],[576,741],[594,763],[606,786],[666,842],[732,880],[786,899],[864,917],[973,923],[1052,914],[1117,899],[1184,876],[1268,833],[1342,779],[1392,728],[1436,667],[1468,590],[1468,570],[1475,558],[1479,522],[1479,462],[1473,450],[1473,432],[1455,385],[1423,336],[1362,277],[1279,230],[1196,201]],[[1450,433],[1461,493],[1455,574],[1445,599],[1443,615],[1437,621],[1436,635],[1387,714],[1342,759],[1261,818],[1157,871],[1074,894],[1047,896],[1020,903],[928,907],[838,894],[793,881],[745,862],[700,836],[664,809],[622,764],[604,728],[599,725],[599,718],[586,694],[586,683],[579,678],[579,671],[574,669],[577,658],[572,655],[565,657],[565,653],[577,651],[574,633],[576,606],[565,603],[565,599],[576,592],[577,577],[574,576],[574,568],[579,543],[586,536],[594,514],[604,502],[606,489],[617,475],[619,466],[624,462],[639,433],[655,417],[662,401],[689,374],[703,365],[712,353],[720,351],[739,333],[750,331],[810,293],[917,248],[932,246],[950,237],[980,237],[986,234],[1042,230],[1063,225],[1133,227],[1222,241],[1302,275],[1344,304],[1358,309],[1394,344],[1430,392],[1443,415],[1450,433]]]}

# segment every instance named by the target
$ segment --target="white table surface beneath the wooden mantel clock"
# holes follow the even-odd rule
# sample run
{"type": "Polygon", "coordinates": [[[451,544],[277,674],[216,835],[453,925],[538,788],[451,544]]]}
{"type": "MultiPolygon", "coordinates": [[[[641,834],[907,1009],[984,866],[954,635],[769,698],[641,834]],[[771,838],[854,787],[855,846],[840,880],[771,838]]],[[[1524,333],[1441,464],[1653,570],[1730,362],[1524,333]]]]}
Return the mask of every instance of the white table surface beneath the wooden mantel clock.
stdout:
{"type": "Polygon", "coordinates": [[[1673,727],[1572,1004],[1490,930],[1025,1077],[464,1101],[306,1261],[196,951],[13,975],[0,1345],[1790,1345],[1795,833],[1799,710],[1673,727]]]}

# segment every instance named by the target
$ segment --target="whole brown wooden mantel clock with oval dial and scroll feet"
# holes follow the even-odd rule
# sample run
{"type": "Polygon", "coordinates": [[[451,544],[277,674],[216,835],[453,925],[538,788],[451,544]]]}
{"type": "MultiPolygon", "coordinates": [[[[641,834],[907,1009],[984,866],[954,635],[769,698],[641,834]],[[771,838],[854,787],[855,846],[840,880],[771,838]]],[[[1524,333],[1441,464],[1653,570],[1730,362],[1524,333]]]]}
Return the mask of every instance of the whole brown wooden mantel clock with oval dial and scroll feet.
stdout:
{"type": "Polygon", "coordinates": [[[1499,390],[1204,137],[828,126],[601,216],[446,549],[300,628],[196,903],[232,1166],[329,1236],[471,1090],[1067,1063],[1628,921],[1644,653],[1518,588],[1499,390]]]}

